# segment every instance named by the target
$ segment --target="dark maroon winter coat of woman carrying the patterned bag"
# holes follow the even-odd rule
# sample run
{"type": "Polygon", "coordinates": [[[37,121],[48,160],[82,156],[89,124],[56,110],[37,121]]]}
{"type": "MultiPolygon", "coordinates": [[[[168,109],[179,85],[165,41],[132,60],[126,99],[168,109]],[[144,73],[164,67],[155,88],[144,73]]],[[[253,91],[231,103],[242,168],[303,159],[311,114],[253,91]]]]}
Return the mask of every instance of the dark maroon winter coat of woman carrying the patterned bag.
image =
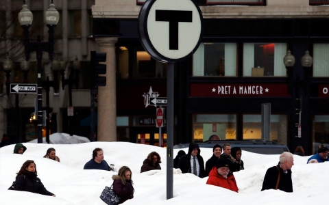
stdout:
{"type": "Polygon", "coordinates": [[[132,180],[125,180],[125,185],[121,182],[121,177],[119,175],[112,176],[113,191],[121,197],[119,204],[130,200],[134,197],[134,187],[132,187],[132,180]]]}

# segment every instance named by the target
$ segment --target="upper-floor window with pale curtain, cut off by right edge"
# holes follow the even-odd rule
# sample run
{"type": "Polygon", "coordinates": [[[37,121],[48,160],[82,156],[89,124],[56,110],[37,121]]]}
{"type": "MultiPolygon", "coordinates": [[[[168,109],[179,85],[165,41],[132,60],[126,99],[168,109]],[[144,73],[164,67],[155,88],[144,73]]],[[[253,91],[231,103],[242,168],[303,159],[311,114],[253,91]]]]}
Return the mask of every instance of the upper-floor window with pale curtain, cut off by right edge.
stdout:
{"type": "Polygon", "coordinates": [[[313,77],[329,77],[329,44],[313,45],[313,77]]]}

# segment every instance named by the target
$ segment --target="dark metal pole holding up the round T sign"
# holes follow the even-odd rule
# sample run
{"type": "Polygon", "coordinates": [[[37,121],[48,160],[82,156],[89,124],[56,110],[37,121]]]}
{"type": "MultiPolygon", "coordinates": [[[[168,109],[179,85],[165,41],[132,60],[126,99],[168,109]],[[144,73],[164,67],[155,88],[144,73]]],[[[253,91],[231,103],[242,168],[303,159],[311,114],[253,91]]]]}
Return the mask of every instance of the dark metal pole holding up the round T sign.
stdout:
{"type": "Polygon", "coordinates": [[[173,69],[174,63],[167,63],[167,200],[173,197],[173,69]]]}

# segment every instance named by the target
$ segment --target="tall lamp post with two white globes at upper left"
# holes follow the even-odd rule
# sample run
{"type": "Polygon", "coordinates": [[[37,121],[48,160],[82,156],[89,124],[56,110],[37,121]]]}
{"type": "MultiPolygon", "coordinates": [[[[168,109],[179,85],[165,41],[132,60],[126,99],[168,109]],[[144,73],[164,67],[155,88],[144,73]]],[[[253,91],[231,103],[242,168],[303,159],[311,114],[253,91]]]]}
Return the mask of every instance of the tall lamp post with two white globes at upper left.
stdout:
{"type": "Polygon", "coordinates": [[[40,35],[38,35],[37,42],[29,42],[29,27],[32,25],[33,14],[27,8],[25,0],[23,1],[22,10],[19,12],[19,23],[24,29],[25,36],[25,59],[29,60],[29,53],[36,51],[37,59],[37,72],[38,72],[38,81],[37,81],[37,90],[38,90],[38,143],[42,143],[42,52],[47,52],[49,54],[50,61],[53,60],[53,29],[56,27],[60,14],[55,9],[53,0],[49,5],[49,9],[45,12],[45,18],[47,27],[49,28],[49,38],[48,42],[41,42],[40,35]]]}

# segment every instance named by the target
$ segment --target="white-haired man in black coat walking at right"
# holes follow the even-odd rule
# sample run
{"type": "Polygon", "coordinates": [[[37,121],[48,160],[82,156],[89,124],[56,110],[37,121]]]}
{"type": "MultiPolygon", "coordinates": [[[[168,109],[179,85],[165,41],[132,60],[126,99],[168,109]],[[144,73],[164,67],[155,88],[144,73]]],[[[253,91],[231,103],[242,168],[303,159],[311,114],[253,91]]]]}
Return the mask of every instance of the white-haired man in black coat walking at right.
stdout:
{"type": "Polygon", "coordinates": [[[293,154],[283,152],[280,155],[279,164],[267,169],[262,191],[266,189],[280,189],[285,192],[293,192],[291,167],[293,167],[293,154]]]}

